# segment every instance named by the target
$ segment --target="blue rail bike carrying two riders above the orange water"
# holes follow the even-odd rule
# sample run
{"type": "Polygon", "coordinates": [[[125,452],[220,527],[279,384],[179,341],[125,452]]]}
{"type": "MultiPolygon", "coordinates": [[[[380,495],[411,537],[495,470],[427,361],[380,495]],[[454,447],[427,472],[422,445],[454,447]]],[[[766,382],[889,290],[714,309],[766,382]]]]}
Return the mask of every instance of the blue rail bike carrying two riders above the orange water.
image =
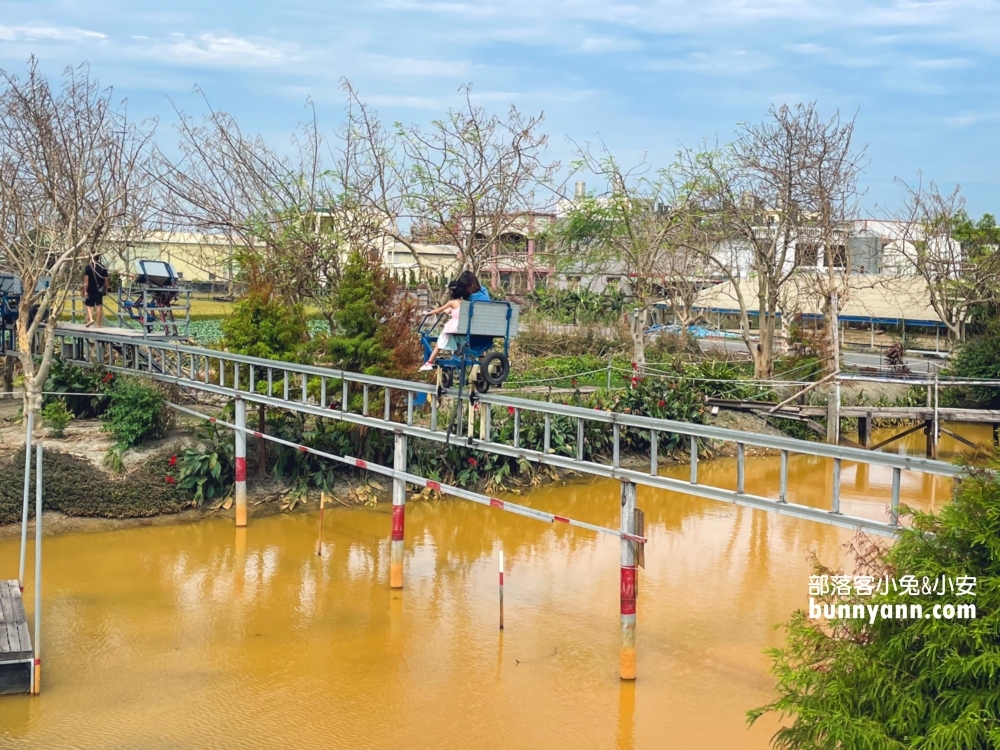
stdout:
{"type": "MultiPolygon", "coordinates": [[[[425,361],[448,317],[446,313],[425,315],[420,321],[425,361]]],[[[457,380],[459,387],[471,383],[479,393],[502,386],[510,374],[510,342],[517,336],[517,321],[518,306],[512,302],[462,302],[455,334],[458,348],[440,352],[435,360],[438,385],[451,388],[457,380]]]]}

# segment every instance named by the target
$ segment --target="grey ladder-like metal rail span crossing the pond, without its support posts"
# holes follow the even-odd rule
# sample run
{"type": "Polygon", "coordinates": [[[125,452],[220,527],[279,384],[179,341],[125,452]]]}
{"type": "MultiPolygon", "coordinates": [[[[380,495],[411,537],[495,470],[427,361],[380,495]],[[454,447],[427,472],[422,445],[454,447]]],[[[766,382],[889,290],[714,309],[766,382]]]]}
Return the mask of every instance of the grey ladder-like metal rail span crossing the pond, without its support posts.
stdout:
{"type": "Polygon", "coordinates": [[[653,417],[599,411],[568,404],[514,398],[498,393],[476,394],[478,409],[465,401],[468,389],[441,389],[429,383],[376,377],[314,365],[292,364],[258,359],[239,354],[185,346],[167,341],[129,339],[99,331],[61,331],[63,356],[82,365],[97,365],[114,371],[148,375],[175,383],[181,388],[211,393],[225,398],[242,398],[278,409],[288,409],[314,417],[334,419],[374,429],[392,431],[441,443],[460,442],[464,447],[523,459],[583,474],[616,478],[721,502],[758,508],[782,515],[874,533],[892,535],[899,528],[900,478],[903,471],[917,471],[945,477],[962,476],[965,471],[954,464],[823,443],[789,437],[742,432],[723,427],[691,424],[653,417]],[[456,414],[443,424],[437,398],[457,401],[456,414]],[[462,398],[460,398],[460,396],[462,398]],[[418,413],[418,401],[429,402],[429,415],[418,413]],[[493,430],[497,410],[506,410],[513,419],[509,439],[501,439],[493,430]],[[377,410],[377,413],[376,413],[377,410]],[[463,419],[468,417],[468,424],[463,419]],[[544,423],[541,449],[522,443],[523,416],[540,415],[544,423]],[[554,452],[551,428],[554,417],[576,422],[575,455],[554,452]],[[477,429],[478,427],[478,429],[477,429]],[[597,429],[607,436],[610,431],[611,455],[590,456],[584,448],[588,432],[597,429]],[[622,465],[622,435],[625,430],[649,435],[648,470],[622,465]],[[689,446],[688,480],[659,474],[659,438],[665,434],[682,435],[689,446]],[[702,484],[698,480],[699,441],[721,441],[736,447],[736,489],[729,490],[702,484]],[[777,498],[747,492],[745,486],[746,446],[779,452],[781,473],[777,498]],[[791,455],[808,455],[832,461],[832,490],[829,508],[815,508],[789,502],[788,461],[791,455]],[[879,520],[841,512],[841,474],[845,462],[880,466],[892,471],[892,496],[888,518],[879,520]]]}

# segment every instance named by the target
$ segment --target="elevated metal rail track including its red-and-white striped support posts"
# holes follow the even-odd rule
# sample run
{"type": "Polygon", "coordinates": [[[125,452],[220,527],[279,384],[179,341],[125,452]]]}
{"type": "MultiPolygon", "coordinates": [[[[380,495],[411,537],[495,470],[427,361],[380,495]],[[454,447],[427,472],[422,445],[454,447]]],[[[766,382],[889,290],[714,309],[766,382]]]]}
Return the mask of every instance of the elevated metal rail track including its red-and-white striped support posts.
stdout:
{"type": "MultiPolygon", "coordinates": [[[[757,508],[772,513],[802,518],[818,523],[850,529],[893,535],[899,530],[899,495],[903,471],[924,472],[946,477],[959,477],[964,470],[937,460],[863,449],[811,443],[787,437],[741,432],[708,425],[689,424],[665,419],[587,409],[580,406],[515,398],[490,392],[478,394],[463,389],[444,389],[429,383],[381,378],[325,367],[291,364],[257,359],[213,349],[187,346],[169,340],[122,335],[121,331],[94,330],[78,326],[57,329],[62,356],[83,366],[100,366],[119,373],[131,373],[174,383],[192,395],[213,394],[230,399],[235,405],[233,422],[223,422],[200,412],[174,405],[181,411],[232,429],[236,443],[236,524],[245,526],[246,516],[246,437],[248,434],[313,453],[348,466],[392,478],[392,533],[390,545],[390,586],[403,586],[404,513],[407,485],[429,487],[456,497],[517,513],[548,523],[566,523],[589,531],[618,536],[621,539],[620,560],[620,625],[622,679],[636,676],[636,568],[641,556],[640,545],[646,539],[642,529],[642,514],[636,509],[636,486],[645,485],[699,497],[757,508]],[[439,409],[439,401],[453,399],[453,414],[439,409]],[[468,399],[469,403],[466,403],[468,399]],[[429,403],[428,409],[419,402],[429,403]],[[247,428],[247,403],[257,403],[275,409],[285,409],[323,419],[339,420],[393,433],[393,466],[380,466],[350,456],[337,456],[304,445],[281,440],[275,436],[247,428]],[[429,413],[427,413],[429,411],[429,413]],[[502,432],[495,429],[495,416],[507,414],[502,432]],[[463,414],[468,417],[466,424],[463,414]],[[525,416],[531,417],[532,427],[542,425],[541,439],[522,429],[525,416]],[[441,417],[444,416],[445,419],[441,417]],[[450,417],[450,418],[449,418],[450,417]],[[575,444],[558,448],[553,442],[554,420],[564,425],[567,420],[576,425],[575,444]],[[447,422],[444,424],[443,422],[447,422]],[[513,423],[511,425],[511,422],[513,423]],[[648,435],[649,463],[644,469],[624,466],[622,449],[628,434],[648,435]],[[684,436],[690,457],[687,480],[662,476],[659,472],[660,439],[664,435],[684,436]],[[599,435],[601,443],[611,446],[610,455],[595,456],[586,450],[587,436],[599,435]],[[608,477],[621,481],[620,529],[618,531],[594,524],[574,521],[566,516],[535,510],[498,498],[480,495],[459,487],[427,480],[407,471],[407,441],[410,438],[439,443],[460,442],[463,446],[536,464],[567,469],[582,474],[608,477]],[[703,484],[698,479],[698,456],[702,441],[723,441],[736,446],[736,488],[728,489],[703,484]],[[781,472],[777,497],[764,497],[746,491],[746,447],[757,446],[778,451],[781,472]],[[788,461],[791,455],[803,454],[829,459],[829,505],[816,508],[788,500],[788,461]],[[841,472],[845,462],[883,467],[892,472],[892,497],[887,517],[871,518],[845,514],[841,511],[841,472]]],[[[7,352],[10,353],[9,351],[7,352]]],[[[31,415],[29,415],[28,447],[30,449],[31,415]]],[[[26,454],[30,456],[30,453],[26,454]]],[[[39,468],[41,467],[39,454],[39,468]]],[[[26,472],[27,475],[27,472],[26,472]]],[[[24,524],[27,522],[27,489],[25,490],[24,524]]],[[[38,511],[41,515],[41,490],[38,490],[38,511]]],[[[26,525],[25,525],[26,528],[26,525]]],[[[39,544],[40,548],[40,544],[39,544]]],[[[22,552],[24,543],[22,540],[22,552]]],[[[40,558],[39,558],[40,559],[40,558]]],[[[23,565],[22,565],[23,568],[23,565]]],[[[36,604],[36,609],[37,609],[36,604]]],[[[37,620],[36,620],[37,621],[37,620]]],[[[36,647],[37,648],[37,647],[36,647]]],[[[39,662],[35,654],[35,679],[38,684],[39,662]]]]}

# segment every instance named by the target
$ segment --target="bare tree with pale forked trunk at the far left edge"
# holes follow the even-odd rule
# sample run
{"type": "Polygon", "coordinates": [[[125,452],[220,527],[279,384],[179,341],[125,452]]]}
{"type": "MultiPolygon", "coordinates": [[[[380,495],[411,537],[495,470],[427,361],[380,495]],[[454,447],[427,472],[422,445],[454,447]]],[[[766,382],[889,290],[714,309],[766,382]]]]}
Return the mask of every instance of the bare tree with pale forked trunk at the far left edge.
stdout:
{"type": "Polygon", "coordinates": [[[27,414],[41,408],[57,321],[84,266],[146,229],[153,128],[132,122],[86,65],[53,89],[32,58],[23,78],[0,71],[0,87],[0,261],[24,284],[27,414]]]}

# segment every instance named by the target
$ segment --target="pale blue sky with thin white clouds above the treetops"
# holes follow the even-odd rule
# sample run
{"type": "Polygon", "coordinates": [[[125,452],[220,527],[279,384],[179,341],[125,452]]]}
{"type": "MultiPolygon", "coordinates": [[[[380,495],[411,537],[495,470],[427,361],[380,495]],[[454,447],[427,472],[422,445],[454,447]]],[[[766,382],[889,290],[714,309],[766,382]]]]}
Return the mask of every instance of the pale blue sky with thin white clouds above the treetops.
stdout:
{"type": "Polygon", "coordinates": [[[815,100],[858,113],[869,214],[918,170],[1000,213],[998,39],[996,0],[0,2],[0,66],[88,61],[134,114],[161,117],[163,140],[169,100],[196,111],[195,84],[275,142],[307,96],[332,129],[346,76],[390,121],[438,116],[471,82],[488,108],[544,110],[552,158],[599,134],[666,164],[815,100]]]}

